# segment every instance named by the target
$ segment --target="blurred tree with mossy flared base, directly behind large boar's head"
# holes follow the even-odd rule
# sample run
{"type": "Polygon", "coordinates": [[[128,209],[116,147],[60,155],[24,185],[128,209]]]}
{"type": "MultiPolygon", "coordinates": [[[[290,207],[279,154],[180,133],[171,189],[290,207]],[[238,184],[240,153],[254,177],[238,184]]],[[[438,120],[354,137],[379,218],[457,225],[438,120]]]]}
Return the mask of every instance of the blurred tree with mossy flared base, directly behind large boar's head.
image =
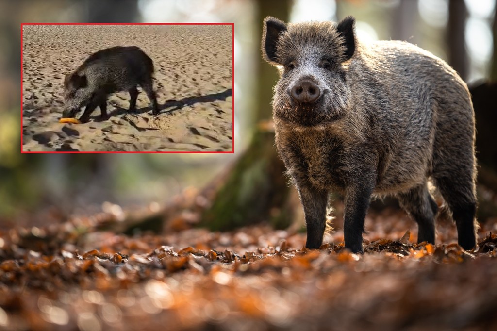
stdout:
{"type": "MultiPolygon", "coordinates": [[[[288,21],[291,1],[257,0],[255,21],[262,35],[262,21],[268,15],[288,21]]],[[[257,39],[256,44],[259,44],[257,39]]],[[[274,68],[259,60],[257,67],[257,109],[255,128],[248,149],[233,165],[217,189],[213,204],[203,214],[201,225],[212,230],[226,230],[260,221],[269,221],[277,228],[286,228],[292,221],[288,204],[290,188],[283,175],[285,166],[274,149],[274,131],[270,121],[271,98],[278,80],[274,68]]]]}

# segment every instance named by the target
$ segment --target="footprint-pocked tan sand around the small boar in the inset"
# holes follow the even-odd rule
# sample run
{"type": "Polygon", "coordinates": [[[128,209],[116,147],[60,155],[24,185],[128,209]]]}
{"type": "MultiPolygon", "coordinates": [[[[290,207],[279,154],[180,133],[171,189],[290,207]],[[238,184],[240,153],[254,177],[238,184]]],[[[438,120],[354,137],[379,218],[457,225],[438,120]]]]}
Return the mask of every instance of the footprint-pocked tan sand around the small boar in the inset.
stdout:
{"type": "Polygon", "coordinates": [[[232,151],[231,25],[24,25],[22,44],[23,152],[232,151]],[[109,119],[96,108],[87,123],[59,123],[64,76],[116,45],[154,61],[159,115],[139,88],[135,112],[118,92],[107,99],[109,119]]]}

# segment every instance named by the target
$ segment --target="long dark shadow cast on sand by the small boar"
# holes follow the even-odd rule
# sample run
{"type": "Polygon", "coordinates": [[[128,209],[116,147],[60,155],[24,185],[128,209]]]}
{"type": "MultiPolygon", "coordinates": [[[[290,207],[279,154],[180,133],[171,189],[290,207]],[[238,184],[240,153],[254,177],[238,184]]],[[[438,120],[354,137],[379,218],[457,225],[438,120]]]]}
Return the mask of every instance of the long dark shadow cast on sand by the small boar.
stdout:
{"type": "MultiPolygon", "coordinates": [[[[187,96],[185,98],[182,98],[181,100],[167,100],[163,104],[159,104],[159,114],[160,113],[171,113],[176,110],[180,110],[183,107],[186,106],[191,106],[192,104],[195,103],[201,103],[201,102],[214,102],[214,101],[224,101],[226,100],[227,97],[233,96],[233,88],[228,88],[224,90],[223,92],[218,92],[218,93],[211,93],[207,95],[200,95],[200,96],[187,96]],[[167,109],[173,107],[171,109],[167,109]],[[163,111],[164,109],[167,109],[166,111],[163,111]]],[[[112,116],[117,116],[117,115],[123,115],[123,114],[143,114],[146,112],[150,112],[152,110],[151,106],[148,107],[143,107],[140,109],[135,109],[134,111],[130,112],[126,108],[122,108],[119,106],[116,106],[114,104],[115,109],[109,113],[109,118],[112,116]]],[[[92,119],[94,121],[100,122],[102,119],[97,115],[97,116],[92,116],[92,119]]]]}

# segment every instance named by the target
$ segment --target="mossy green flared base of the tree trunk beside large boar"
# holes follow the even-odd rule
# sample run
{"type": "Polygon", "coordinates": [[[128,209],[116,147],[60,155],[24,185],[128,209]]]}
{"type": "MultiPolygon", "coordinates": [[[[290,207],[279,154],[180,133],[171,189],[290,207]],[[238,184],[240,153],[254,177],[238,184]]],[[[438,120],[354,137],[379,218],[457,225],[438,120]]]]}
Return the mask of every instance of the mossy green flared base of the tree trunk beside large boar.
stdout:
{"type": "Polygon", "coordinates": [[[229,230],[268,221],[276,228],[290,225],[284,208],[289,187],[285,167],[274,150],[274,132],[255,131],[247,151],[229,171],[203,216],[201,226],[229,230]]]}

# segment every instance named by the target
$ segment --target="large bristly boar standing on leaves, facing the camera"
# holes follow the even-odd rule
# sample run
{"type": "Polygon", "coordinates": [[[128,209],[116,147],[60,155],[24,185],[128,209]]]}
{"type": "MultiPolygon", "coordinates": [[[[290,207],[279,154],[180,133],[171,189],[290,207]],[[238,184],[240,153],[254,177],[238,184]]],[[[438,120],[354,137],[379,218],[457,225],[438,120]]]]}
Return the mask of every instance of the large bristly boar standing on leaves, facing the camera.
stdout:
{"type": "Polygon", "coordinates": [[[452,211],[459,245],[476,244],[475,120],[466,83],[410,43],[357,40],[339,23],[264,20],[263,58],[280,72],[276,147],[304,207],[308,248],[319,248],[331,190],[344,196],[344,241],[362,251],[372,196],[398,197],[435,242],[431,180],[452,211]]]}

